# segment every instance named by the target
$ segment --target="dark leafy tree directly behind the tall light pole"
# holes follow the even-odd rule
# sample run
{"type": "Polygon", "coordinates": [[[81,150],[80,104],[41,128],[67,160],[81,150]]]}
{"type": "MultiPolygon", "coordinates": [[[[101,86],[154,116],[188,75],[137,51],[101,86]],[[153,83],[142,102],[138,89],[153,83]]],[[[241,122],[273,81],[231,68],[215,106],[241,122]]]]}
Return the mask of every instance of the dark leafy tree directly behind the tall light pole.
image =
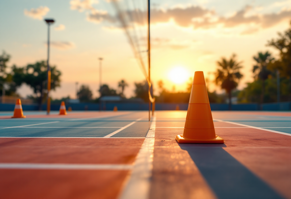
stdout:
{"type": "MultiPolygon", "coordinates": [[[[32,89],[35,95],[38,97],[38,107],[41,110],[41,104],[47,89],[47,65],[46,61],[36,62],[35,64],[29,64],[26,67],[16,66],[12,67],[13,81],[17,86],[21,86],[22,83],[26,83],[32,89]]],[[[56,66],[51,66],[51,89],[55,90],[61,83],[61,72],[56,69],[56,66]]]]}

